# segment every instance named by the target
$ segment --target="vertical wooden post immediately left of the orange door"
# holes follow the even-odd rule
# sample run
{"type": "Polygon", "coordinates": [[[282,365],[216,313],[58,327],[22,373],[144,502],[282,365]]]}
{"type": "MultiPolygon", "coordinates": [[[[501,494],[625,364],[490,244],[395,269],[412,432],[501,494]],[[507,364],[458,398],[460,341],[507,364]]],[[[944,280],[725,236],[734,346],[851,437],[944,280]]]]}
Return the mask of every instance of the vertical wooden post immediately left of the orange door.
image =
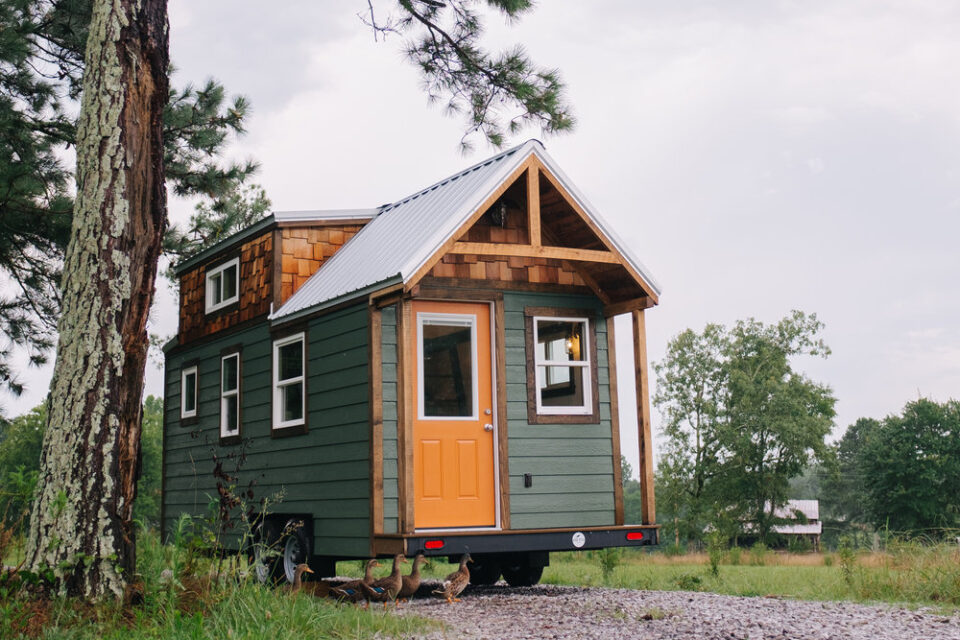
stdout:
{"type": "Polygon", "coordinates": [[[414,530],[413,491],[413,407],[416,404],[413,390],[414,348],[413,308],[410,300],[401,300],[397,314],[397,493],[398,531],[412,533],[414,530]]]}

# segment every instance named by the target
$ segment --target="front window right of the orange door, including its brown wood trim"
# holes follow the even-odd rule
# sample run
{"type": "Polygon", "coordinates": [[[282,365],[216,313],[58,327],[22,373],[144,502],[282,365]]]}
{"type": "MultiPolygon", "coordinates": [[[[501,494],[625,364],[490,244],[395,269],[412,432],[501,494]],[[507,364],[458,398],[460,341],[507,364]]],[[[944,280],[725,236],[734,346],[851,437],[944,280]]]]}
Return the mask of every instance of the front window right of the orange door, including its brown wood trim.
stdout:
{"type": "Polygon", "coordinates": [[[596,332],[576,309],[527,308],[527,417],[531,424],[597,423],[596,332]]]}

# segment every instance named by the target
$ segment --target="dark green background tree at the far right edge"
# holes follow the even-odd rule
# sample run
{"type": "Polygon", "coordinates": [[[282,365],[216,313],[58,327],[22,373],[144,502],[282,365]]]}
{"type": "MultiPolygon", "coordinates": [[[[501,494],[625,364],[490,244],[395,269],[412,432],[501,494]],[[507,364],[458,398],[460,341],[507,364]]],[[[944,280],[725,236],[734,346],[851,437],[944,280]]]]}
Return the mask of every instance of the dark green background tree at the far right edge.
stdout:
{"type": "Polygon", "coordinates": [[[866,436],[857,470],[875,527],[934,537],[960,528],[960,402],[909,402],[866,436]]]}

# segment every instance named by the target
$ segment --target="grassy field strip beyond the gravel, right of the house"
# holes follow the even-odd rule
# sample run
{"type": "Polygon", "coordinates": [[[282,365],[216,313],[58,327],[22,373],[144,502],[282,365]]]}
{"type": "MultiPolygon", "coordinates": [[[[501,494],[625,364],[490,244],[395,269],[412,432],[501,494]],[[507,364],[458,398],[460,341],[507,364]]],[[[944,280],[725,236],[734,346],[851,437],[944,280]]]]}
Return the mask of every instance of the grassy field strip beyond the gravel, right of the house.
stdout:
{"type": "Polygon", "coordinates": [[[832,554],[745,551],[725,554],[717,575],[707,554],[626,552],[604,578],[590,552],[553,554],[543,582],[657,591],[709,591],[802,600],[890,602],[960,610],[960,549],[899,543],[884,553],[832,554]],[[736,564],[734,564],[736,562],[736,564]]]}

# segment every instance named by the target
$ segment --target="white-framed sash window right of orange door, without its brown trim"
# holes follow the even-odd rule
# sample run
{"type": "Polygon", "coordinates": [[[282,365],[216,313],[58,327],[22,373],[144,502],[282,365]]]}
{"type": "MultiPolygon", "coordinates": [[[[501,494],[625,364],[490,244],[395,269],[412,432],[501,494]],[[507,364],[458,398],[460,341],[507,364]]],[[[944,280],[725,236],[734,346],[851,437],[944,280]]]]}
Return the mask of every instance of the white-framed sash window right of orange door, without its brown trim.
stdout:
{"type": "Polygon", "coordinates": [[[590,320],[534,316],[533,346],[540,415],[593,413],[590,320]]]}

